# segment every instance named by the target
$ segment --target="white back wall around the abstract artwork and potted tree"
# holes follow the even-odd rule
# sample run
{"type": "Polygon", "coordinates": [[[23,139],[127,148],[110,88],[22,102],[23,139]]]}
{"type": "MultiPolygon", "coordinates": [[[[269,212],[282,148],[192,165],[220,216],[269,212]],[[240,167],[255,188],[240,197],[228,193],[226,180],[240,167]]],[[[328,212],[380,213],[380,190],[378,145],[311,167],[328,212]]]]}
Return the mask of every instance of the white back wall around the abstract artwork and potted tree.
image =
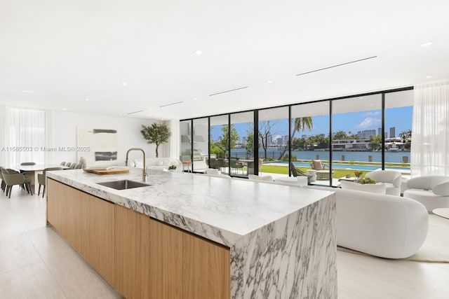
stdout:
{"type": "MultiPolygon", "coordinates": [[[[142,134],[140,134],[141,125],[151,125],[156,122],[159,121],[142,118],[99,116],[66,111],[53,111],[53,138],[47,138],[48,142],[53,142],[53,144],[48,144],[48,147],[76,147],[77,127],[117,130],[119,138],[117,164],[124,165],[128,148],[143,148],[147,158],[156,156],[156,146],[154,144],[147,144],[147,141],[145,141],[142,134]]],[[[172,134],[175,133],[173,131],[177,133],[177,130],[172,130],[172,134]]],[[[170,142],[176,142],[177,140],[179,140],[179,137],[172,137],[168,143],[159,146],[159,157],[171,154],[170,142]]],[[[47,154],[46,161],[49,163],[60,164],[62,161],[77,162],[76,152],[55,151],[47,154]]],[[[130,153],[129,158],[141,158],[141,155],[140,152],[133,151],[130,153]]],[[[176,155],[175,158],[177,158],[176,155]]]]}

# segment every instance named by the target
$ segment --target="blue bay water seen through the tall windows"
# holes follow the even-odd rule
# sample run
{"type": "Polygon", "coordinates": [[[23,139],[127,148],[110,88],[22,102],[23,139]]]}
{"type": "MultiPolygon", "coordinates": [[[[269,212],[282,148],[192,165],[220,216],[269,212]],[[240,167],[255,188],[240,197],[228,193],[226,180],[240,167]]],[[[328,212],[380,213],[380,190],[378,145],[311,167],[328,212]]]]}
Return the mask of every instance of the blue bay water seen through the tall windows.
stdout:
{"type": "MultiPolygon", "coordinates": [[[[281,153],[282,151],[278,151],[277,148],[269,148],[267,158],[279,160],[281,153]]],[[[288,151],[286,154],[288,154],[288,151]]],[[[319,155],[320,160],[329,160],[329,151],[292,151],[292,155],[295,155],[297,160],[316,160],[316,155],[319,155]]],[[[333,161],[341,161],[342,155],[344,155],[344,161],[368,162],[369,156],[371,156],[372,162],[382,162],[382,152],[380,151],[334,151],[333,161]]],[[[249,158],[244,148],[232,149],[231,156],[234,158],[249,158]]],[[[263,150],[259,151],[259,157],[264,158],[263,150]]],[[[407,157],[410,163],[409,151],[385,152],[386,163],[403,163],[403,157],[407,157]]]]}

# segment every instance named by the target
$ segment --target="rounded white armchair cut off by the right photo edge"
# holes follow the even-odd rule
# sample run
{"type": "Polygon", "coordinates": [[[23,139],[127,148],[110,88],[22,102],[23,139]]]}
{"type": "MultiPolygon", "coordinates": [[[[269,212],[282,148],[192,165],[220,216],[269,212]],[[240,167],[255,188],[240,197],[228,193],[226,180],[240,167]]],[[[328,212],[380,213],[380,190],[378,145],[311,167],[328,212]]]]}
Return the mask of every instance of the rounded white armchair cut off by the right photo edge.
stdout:
{"type": "Polygon", "coordinates": [[[427,211],[449,207],[448,176],[417,176],[407,181],[404,197],[424,204],[427,211]]]}

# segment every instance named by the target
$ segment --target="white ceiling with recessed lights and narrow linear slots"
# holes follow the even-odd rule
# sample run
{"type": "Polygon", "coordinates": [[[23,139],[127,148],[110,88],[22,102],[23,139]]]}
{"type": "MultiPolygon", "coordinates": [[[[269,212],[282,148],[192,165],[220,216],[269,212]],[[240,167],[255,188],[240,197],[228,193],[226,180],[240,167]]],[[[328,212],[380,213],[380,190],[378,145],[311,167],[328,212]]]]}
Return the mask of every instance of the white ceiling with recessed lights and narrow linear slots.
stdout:
{"type": "Polygon", "coordinates": [[[0,104],[191,118],[436,81],[449,78],[448,11],[443,0],[0,0],[0,104]]]}

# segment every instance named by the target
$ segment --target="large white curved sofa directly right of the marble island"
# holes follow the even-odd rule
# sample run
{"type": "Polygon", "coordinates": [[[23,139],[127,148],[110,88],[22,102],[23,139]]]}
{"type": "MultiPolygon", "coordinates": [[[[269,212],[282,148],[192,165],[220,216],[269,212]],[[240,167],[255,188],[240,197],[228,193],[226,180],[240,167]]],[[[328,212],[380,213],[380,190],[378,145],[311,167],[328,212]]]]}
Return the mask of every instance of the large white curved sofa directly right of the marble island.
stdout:
{"type": "Polygon", "coordinates": [[[427,237],[429,214],[416,200],[359,190],[303,188],[337,194],[338,246],[382,258],[407,258],[427,237]]]}

